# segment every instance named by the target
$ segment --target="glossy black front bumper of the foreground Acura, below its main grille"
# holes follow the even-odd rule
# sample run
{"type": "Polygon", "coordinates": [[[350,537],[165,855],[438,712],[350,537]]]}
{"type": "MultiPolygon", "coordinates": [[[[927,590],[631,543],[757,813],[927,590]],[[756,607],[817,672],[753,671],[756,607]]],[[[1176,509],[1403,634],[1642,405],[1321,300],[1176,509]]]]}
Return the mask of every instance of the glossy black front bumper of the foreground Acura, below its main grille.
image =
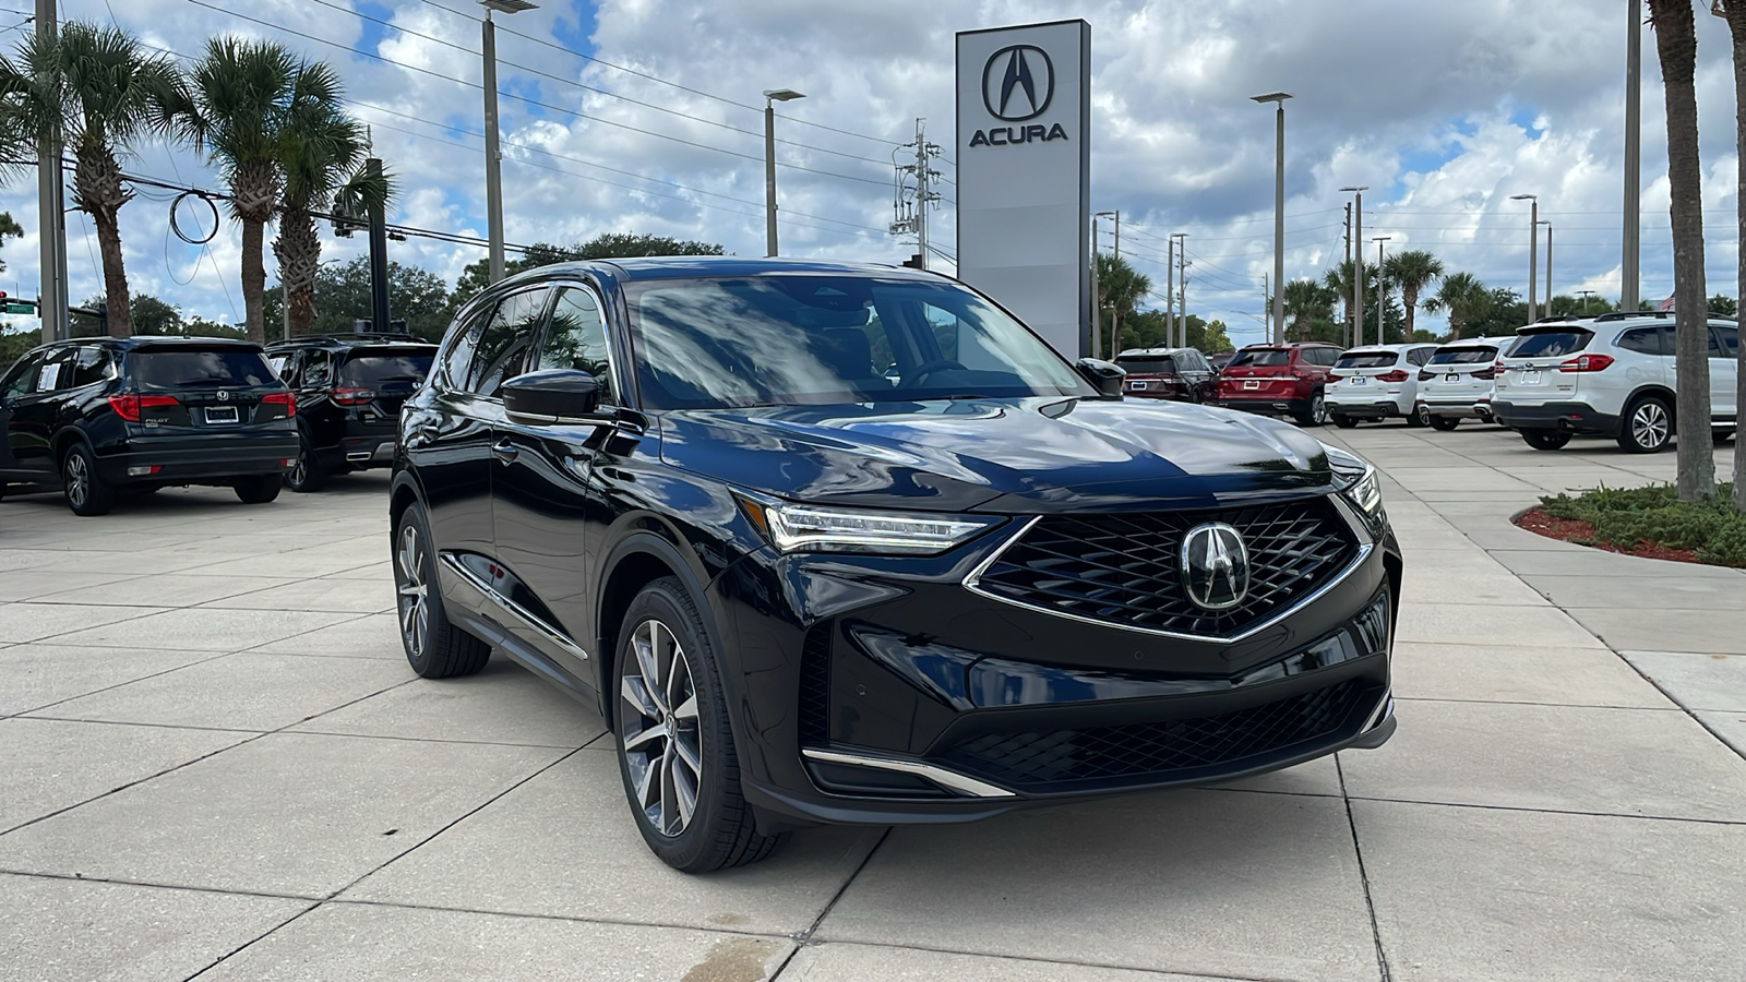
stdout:
{"type": "Polygon", "coordinates": [[[957,561],[760,552],[716,580],[761,823],[969,821],[1231,781],[1393,732],[1392,535],[1231,641],[973,594],[962,580],[993,545],[957,561]]]}

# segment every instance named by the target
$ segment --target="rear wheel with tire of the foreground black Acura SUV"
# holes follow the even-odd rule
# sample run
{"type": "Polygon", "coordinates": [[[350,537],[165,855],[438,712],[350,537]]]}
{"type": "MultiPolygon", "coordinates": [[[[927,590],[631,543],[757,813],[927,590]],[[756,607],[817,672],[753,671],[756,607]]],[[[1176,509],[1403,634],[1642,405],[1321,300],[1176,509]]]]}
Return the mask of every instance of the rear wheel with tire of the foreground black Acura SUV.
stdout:
{"type": "Polygon", "coordinates": [[[424,505],[412,503],[395,524],[395,613],[407,664],[421,678],[473,674],[491,660],[491,645],[449,622],[436,587],[436,552],[431,547],[424,505]]]}

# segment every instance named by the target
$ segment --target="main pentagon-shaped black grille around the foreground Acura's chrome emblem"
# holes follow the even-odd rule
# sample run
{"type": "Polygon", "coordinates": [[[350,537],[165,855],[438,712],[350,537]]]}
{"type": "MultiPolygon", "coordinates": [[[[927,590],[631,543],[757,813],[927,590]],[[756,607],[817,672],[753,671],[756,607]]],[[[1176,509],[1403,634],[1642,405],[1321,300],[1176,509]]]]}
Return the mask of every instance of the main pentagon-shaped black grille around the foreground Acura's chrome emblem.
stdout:
{"type": "Polygon", "coordinates": [[[992,563],[976,589],[1105,624],[1229,638],[1330,582],[1357,554],[1323,498],[1210,512],[1048,515],[992,563]],[[1182,589],[1182,536],[1227,522],[1248,547],[1248,596],[1205,610],[1182,589]]]}

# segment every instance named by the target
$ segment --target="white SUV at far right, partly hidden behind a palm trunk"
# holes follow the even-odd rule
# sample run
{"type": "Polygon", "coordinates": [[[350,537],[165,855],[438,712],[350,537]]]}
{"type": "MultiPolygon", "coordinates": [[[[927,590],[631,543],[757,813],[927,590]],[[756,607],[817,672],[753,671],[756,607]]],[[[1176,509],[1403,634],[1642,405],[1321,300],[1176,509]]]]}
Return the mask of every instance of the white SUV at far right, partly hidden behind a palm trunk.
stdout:
{"type": "MultiPolygon", "coordinates": [[[[1556,451],[1575,433],[1631,453],[1667,449],[1674,419],[1673,315],[1617,313],[1533,323],[1500,360],[1491,411],[1528,446],[1556,451]]],[[[1709,430],[1734,432],[1739,325],[1709,320],[1709,430]]]]}

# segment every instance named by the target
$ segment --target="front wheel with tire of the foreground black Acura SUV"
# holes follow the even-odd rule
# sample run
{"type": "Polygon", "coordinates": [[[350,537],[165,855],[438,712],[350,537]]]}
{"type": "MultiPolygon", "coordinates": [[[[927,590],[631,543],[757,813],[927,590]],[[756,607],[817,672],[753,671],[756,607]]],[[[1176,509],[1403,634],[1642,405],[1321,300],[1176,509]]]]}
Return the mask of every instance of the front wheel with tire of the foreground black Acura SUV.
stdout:
{"type": "Polygon", "coordinates": [[[758,832],[709,629],[674,577],[630,601],[615,667],[618,771],[637,832],[669,867],[707,874],[768,856],[758,832]]]}

